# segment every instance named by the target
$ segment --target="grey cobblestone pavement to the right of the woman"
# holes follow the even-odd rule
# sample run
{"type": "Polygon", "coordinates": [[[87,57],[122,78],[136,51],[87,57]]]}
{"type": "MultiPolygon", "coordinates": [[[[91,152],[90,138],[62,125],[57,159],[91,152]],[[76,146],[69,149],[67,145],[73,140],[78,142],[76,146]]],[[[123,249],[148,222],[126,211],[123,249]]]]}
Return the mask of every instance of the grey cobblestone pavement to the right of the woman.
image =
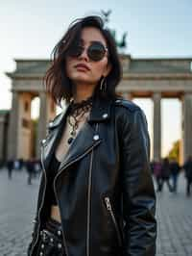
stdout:
{"type": "Polygon", "coordinates": [[[157,256],[192,256],[192,196],[185,196],[180,174],[178,193],[157,193],[157,256]]]}

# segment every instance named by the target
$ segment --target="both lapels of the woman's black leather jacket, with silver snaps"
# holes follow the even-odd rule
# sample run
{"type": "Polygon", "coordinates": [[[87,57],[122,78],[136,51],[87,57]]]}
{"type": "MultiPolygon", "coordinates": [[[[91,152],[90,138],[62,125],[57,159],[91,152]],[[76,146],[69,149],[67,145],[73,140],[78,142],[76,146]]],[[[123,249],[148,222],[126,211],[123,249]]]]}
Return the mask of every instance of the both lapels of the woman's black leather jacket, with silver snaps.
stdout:
{"type": "MultiPolygon", "coordinates": [[[[51,123],[50,136],[46,140],[47,143],[45,142],[43,145],[45,168],[48,167],[56,144],[58,140],[60,140],[60,133],[63,130],[69,105],[67,105],[63,114],[60,115],[60,118],[57,118],[51,123]]],[[[101,99],[96,99],[93,101],[92,109],[87,122],[84,123],[75,140],[73,140],[70,144],[60,164],[59,171],[83,158],[91,151],[91,149],[102,142],[99,122],[108,121],[111,113],[110,107],[110,100],[104,101],[101,99]]]]}

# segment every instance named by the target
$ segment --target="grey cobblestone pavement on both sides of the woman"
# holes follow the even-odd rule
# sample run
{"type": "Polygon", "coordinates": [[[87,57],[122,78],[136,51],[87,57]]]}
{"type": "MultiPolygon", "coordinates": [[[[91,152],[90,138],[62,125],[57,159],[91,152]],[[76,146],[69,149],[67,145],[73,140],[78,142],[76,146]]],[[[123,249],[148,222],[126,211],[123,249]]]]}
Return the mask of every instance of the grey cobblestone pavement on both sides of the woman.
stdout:
{"type": "MultiPolygon", "coordinates": [[[[26,255],[38,186],[39,179],[27,184],[24,170],[14,171],[12,180],[6,169],[0,170],[0,256],[26,255]]],[[[192,196],[185,196],[184,187],[181,174],[177,194],[168,192],[166,186],[156,194],[156,256],[192,256],[192,196]]]]}

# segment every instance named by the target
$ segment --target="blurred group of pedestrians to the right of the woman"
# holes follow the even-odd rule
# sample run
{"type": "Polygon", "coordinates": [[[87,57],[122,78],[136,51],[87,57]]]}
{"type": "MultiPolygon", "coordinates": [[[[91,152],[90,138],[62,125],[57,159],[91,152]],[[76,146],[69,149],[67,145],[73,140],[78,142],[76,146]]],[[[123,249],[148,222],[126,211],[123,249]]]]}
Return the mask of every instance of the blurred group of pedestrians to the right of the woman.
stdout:
{"type": "Polygon", "coordinates": [[[178,191],[178,179],[180,172],[184,171],[186,178],[186,195],[191,194],[192,186],[192,156],[189,156],[183,166],[180,166],[175,159],[164,158],[159,162],[152,162],[152,171],[156,178],[156,192],[162,192],[166,184],[169,192],[178,191]]]}

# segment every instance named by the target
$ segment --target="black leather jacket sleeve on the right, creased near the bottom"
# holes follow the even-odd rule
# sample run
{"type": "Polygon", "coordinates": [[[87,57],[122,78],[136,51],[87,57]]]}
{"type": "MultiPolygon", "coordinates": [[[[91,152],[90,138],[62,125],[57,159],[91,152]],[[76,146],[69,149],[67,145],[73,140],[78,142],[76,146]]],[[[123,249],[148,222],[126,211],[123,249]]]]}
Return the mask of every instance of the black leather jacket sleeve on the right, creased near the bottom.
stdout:
{"type": "Polygon", "coordinates": [[[150,168],[147,120],[142,110],[126,111],[121,136],[124,256],[154,256],[156,193],[150,168]]]}

